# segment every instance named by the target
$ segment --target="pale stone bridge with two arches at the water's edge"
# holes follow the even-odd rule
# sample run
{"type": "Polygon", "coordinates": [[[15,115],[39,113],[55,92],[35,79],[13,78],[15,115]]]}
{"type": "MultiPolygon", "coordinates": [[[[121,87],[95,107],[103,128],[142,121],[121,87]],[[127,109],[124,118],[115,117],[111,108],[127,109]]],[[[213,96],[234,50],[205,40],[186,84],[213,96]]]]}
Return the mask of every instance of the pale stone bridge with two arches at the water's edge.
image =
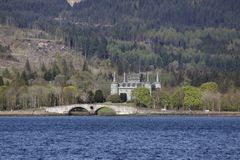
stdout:
{"type": "Polygon", "coordinates": [[[98,110],[102,108],[110,108],[115,111],[116,115],[131,115],[137,113],[137,108],[122,106],[122,105],[110,105],[110,104],[74,104],[74,105],[65,105],[65,106],[56,106],[45,108],[48,113],[57,113],[57,114],[69,114],[75,108],[86,109],[90,114],[97,114],[98,110]]]}

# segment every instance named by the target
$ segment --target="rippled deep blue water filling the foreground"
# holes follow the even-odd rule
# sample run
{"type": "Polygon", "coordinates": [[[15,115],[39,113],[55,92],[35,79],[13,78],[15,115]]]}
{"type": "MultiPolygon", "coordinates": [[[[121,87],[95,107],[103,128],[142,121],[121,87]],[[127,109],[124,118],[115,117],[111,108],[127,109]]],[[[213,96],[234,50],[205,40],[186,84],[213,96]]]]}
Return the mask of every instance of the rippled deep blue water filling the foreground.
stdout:
{"type": "Polygon", "coordinates": [[[237,117],[0,117],[0,159],[240,159],[237,117]]]}

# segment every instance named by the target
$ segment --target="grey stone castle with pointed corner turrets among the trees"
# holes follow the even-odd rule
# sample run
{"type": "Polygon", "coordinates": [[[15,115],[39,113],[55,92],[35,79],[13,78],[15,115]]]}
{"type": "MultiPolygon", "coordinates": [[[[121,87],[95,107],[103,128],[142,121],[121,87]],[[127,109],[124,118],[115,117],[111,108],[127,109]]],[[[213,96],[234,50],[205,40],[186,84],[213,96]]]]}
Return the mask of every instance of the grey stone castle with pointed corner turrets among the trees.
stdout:
{"type": "Polygon", "coordinates": [[[133,99],[132,91],[137,87],[146,87],[152,93],[153,89],[160,88],[161,82],[159,80],[159,75],[157,74],[156,82],[150,83],[149,75],[147,74],[147,81],[143,81],[142,75],[139,74],[129,74],[126,76],[124,73],[123,82],[116,82],[116,75],[114,73],[113,82],[111,83],[111,95],[124,93],[127,95],[127,100],[131,101],[133,99]]]}

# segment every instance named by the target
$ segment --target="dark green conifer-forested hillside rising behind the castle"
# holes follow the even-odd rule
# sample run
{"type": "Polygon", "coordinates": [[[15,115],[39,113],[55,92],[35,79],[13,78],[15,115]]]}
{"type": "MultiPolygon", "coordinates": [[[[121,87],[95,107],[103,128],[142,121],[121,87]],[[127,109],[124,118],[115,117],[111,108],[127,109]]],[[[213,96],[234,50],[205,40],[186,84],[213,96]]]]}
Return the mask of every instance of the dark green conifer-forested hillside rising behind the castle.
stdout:
{"type": "Polygon", "coordinates": [[[210,81],[222,93],[240,87],[239,0],[0,4],[1,25],[42,30],[88,61],[108,62],[119,75],[140,66],[143,72],[160,71],[164,87],[210,81]]]}

